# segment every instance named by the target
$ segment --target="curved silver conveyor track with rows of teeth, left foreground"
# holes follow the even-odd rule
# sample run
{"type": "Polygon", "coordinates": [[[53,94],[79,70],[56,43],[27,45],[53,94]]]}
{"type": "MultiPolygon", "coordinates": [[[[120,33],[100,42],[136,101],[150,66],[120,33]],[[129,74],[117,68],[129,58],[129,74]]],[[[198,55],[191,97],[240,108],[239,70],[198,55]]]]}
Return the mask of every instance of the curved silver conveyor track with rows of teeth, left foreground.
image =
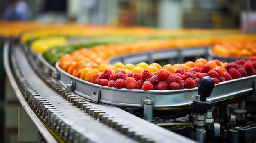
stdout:
{"type": "Polygon", "coordinates": [[[192,143],[115,106],[85,99],[58,84],[16,41],[4,47],[7,75],[46,142],[192,143]]]}

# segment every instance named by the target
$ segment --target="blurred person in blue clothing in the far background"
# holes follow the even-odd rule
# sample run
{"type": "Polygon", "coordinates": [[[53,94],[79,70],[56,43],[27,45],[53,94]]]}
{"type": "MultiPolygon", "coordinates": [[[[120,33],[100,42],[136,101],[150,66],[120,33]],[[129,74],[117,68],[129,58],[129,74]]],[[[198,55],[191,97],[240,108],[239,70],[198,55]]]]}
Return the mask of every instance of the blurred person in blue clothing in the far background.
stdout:
{"type": "Polygon", "coordinates": [[[31,11],[27,2],[23,0],[11,0],[5,10],[4,20],[29,20],[31,11]]]}

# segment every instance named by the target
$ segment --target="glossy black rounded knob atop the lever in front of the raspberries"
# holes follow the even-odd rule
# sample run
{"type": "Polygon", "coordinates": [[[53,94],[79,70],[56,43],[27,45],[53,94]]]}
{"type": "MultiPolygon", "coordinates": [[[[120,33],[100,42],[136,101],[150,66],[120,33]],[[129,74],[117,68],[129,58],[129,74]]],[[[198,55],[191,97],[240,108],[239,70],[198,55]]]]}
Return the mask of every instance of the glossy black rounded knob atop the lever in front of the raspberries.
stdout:
{"type": "Polygon", "coordinates": [[[205,101],[206,97],[211,95],[214,88],[214,80],[212,77],[202,77],[198,84],[198,95],[200,95],[200,101],[205,101]]]}

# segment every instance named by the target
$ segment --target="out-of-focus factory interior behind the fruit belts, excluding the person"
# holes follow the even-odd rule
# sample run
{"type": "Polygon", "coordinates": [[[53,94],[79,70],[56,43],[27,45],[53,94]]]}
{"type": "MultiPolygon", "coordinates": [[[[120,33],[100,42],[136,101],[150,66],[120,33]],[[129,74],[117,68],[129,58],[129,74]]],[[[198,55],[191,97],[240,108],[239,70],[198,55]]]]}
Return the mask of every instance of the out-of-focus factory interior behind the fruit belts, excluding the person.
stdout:
{"type": "MultiPolygon", "coordinates": [[[[1,0],[0,20],[9,4],[1,0]]],[[[255,0],[24,0],[28,20],[153,26],[165,28],[240,28],[242,11],[255,0]]]]}

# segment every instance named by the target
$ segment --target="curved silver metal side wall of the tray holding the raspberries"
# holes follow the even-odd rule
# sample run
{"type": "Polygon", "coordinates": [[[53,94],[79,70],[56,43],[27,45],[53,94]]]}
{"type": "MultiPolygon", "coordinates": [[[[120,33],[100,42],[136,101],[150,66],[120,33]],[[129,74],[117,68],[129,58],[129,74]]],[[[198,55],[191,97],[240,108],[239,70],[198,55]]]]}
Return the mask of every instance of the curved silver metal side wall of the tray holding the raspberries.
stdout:
{"type": "MultiPolygon", "coordinates": [[[[192,101],[198,95],[198,88],[182,90],[129,90],[117,89],[93,84],[74,77],[58,66],[59,82],[65,88],[67,84],[74,84],[74,92],[82,97],[98,103],[115,106],[143,107],[146,97],[153,100],[154,108],[179,108],[192,105],[192,101]]],[[[218,103],[255,92],[256,75],[233,79],[216,84],[211,96],[207,100],[218,103]]]]}

